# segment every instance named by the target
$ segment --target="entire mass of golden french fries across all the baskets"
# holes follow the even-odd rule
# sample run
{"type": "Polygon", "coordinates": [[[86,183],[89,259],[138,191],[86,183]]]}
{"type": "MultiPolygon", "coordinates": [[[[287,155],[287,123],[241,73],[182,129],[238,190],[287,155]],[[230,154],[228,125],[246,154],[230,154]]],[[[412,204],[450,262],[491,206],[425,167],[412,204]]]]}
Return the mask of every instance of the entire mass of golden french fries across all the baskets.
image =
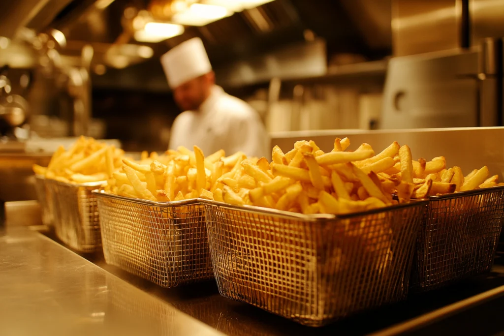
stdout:
{"type": "Polygon", "coordinates": [[[346,151],[348,138],[337,138],[325,153],[313,141],[298,141],[283,153],[275,146],[266,158],[229,157],[223,150],[207,157],[179,147],[166,154],[142,153],[140,161],[124,158],[113,146],[81,137],[68,151],[58,148],[47,168],[36,174],[68,183],[107,181],[107,192],[152,201],[206,198],[303,214],[347,214],[498,183],[488,167],[467,176],[448,168],[444,157],[412,159],[408,146],[392,143],[376,154],[368,144],[346,151]],[[398,200],[394,199],[397,195],[398,200]]]}

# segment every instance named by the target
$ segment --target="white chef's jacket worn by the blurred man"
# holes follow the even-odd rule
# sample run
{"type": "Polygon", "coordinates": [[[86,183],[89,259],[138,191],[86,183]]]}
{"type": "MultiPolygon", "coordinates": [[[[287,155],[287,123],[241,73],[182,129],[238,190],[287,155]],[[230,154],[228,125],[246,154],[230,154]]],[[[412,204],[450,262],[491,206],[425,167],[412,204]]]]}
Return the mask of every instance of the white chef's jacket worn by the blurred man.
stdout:
{"type": "Polygon", "coordinates": [[[171,128],[170,149],[200,147],[210,155],[220,149],[226,155],[242,151],[248,157],[270,159],[270,138],[250,105],[214,86],[199,111],[185,111],[171,128]]]}

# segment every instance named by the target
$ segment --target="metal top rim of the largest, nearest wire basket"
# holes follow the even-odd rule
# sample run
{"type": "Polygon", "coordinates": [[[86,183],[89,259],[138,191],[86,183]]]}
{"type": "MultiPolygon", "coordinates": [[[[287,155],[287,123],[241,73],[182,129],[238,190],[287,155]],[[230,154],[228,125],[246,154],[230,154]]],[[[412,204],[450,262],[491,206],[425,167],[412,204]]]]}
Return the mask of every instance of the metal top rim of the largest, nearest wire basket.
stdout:
{"type": "Polygon", "coordinates": [[[377,209],[361,211],[361,212],[356,212],[356,213],[351,213],[351,214],[344,214],[344,215],[334,215],[334,214],[305,215],[305,214],[298,214],[298,213],[293,213],[293,212],[289,212],[289,211],[263,208],[263,207],[257,207],[257,206],[247,206],[247,205],[235,206],[235,205],[231,205],[231,204],[227,204],[227,203],[223,203],[223,202],[218,202],[215,200],[203,199],[203,198],[199,198],[198,201],[204,205],[208,205],[208,206],[212,206],[212,207],[225,208],[225,209],[230,209],[230,210],[239,210],[239,211],[244,211],[247,213],[256,213],[256,214],[261,214],[261,215],[274,215],[274,216],[281,217],[281,218],[297,219],[297,220],[309,221],[309,222],[324,222],[327,220],[342,220],[342,219],[349,219],[349,218],[353,218],[353,217],[359,217],[359,216],[387,212],[387,211],[396,210],[396,209],[424,207],[429,202],[428,199],[419,199],[419,200],[414,200],[410,203],[397,204],[397,205],[392,205],[392,206],[388,206],[388,207],[377,208],[377,209]]]}

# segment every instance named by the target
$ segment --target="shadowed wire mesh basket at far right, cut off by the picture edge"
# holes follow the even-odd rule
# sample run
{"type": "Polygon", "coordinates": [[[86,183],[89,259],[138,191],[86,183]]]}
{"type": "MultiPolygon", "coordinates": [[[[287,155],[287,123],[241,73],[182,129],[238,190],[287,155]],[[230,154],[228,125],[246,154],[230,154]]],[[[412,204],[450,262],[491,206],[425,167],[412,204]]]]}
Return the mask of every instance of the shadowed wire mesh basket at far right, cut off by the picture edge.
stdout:
{"type": "Polygon", "coordinates": [[[504,187],[430,196],[416,242],[412,289],[428,291],[489,271],[503,216],[504,187]]]}

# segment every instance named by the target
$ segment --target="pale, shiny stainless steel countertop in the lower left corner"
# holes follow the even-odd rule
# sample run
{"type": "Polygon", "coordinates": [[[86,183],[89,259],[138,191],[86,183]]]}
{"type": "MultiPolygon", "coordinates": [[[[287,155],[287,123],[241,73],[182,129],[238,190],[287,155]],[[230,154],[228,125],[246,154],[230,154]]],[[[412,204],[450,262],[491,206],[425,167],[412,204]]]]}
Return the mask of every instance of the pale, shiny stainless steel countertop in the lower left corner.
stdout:
{"type": "Polygon", "coordinates": [[[2,335],[221,334],[38,232],[4,230],[2,335]]]}

